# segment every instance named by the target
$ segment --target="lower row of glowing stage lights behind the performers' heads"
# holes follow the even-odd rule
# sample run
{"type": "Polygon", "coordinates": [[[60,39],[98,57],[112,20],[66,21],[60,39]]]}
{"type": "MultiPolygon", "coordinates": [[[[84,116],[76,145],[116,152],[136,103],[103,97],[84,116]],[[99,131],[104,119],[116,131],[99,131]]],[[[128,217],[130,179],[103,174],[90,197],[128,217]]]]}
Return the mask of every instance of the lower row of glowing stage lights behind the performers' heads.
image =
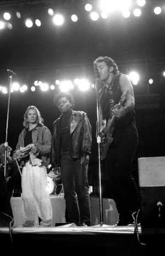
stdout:
{"type": "MultiPolygon", "coordinates": [[[[165,71],[162,73],[162,75],[165,78],[165,71]]],[[[131,72],[128,75],[128,77],[134,86],[138,85],[140,80],[140,76],[138,73],[131,72]]],[[[155,81],[152,78],[148,80],[149,84],[153,84],[154,82],[155,81]]],[[[71,80],[62,80],[62,81],[56,80],[54,84],[49,84],[49,83],[42,82],[40,80],[36,80],[34,82],[34,85],[30,87],[30,90],[35,91],[36,88],[40,88],[41,91],[55,90],[56,88],[58,88],[61,91],[73,90],[74,88],[78,88],[81,91],[87,91],[90,89],[94,89],[95,84],[90,83],[90,81],[87,79],[78,79],[78,78],[74,79],[73,82],[71,80]]],[[[10,92],[14,92],[14,91],[26,92],[28,90],[29,90],[28,85],[26,84],[20,85],[17,81],[14,81],[14,83],[12,83],[12,86],[10,88],[10,92]]],[[[0,92],[2,92],[3,94],[7,94],[8,86],[2,86],[0,84],[0,92]]]]}

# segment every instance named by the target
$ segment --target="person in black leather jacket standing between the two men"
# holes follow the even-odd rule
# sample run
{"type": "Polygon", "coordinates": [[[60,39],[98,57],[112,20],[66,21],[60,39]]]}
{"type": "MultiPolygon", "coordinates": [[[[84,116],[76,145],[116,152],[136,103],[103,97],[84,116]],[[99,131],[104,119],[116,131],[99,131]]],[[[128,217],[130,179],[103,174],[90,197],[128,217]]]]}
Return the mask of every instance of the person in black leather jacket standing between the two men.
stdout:
{"type": "Polygon", "coordinates": [[[61,168],[64,198],[69,221],[77,226],[90,226],[90,198],[87,168],[91,155],[91,124],[83,111],[74,111],[70,92],[54,96],[61,116],[53,123],[53,168],[61,168]],[[76,197],[77,195],[77,197],[76,197]]]}

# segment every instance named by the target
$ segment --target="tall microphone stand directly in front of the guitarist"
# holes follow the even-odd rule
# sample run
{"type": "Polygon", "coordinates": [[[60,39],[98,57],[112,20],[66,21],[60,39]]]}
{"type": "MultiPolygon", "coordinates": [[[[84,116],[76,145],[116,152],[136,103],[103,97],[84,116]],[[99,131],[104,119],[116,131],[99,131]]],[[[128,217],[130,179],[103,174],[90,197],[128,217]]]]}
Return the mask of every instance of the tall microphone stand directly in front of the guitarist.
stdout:
{"type": "Polygon", "coordinates": [[[99,123],[99,104],[98,104],[98,71],[94,62],[95,71],[95,90],[96,90],[96,101],[97,101],[97,150],[98,150],[98,181],[99,181],[99,203],[100,203],[100,225],[103,225],[103,207],[102,207],[102,188],[101,188],[101,150],[100,150],[100,123],[99,123]]]}

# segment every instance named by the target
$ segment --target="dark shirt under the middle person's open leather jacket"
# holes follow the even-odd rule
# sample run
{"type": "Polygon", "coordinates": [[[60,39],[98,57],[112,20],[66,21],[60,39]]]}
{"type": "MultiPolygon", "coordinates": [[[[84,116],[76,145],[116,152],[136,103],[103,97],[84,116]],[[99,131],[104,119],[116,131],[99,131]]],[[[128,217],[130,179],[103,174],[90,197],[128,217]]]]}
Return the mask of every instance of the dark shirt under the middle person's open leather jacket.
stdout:
{"type": "Polygon", "coordinates": [[[71,116],[72,116],[72,110],[67,111],[61,116],[61,149],[62,151],[69,150],[71,116]]]}

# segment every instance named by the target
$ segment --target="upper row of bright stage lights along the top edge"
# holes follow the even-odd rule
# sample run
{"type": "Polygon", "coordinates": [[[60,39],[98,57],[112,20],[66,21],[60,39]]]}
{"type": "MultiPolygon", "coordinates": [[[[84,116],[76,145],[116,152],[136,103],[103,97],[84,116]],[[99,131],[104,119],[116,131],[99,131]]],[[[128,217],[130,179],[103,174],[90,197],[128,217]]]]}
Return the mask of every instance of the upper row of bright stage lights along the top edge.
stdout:
{"type": "MultiPolygon", "coordinates": [[[[92,2],[92,1],[91,1],[92,2]]],[[[148,1],[150,2],[150,1],[148,1]]],[[[124,18],[129,18],[131,15],[134,15],[135,17],[140,17],[142,14],[142,7],[144,7],[147,3],[147,0],[100,0],[98,1],[98,7],[101,11],[96,11],[91,3],[85,4],[85,10],[86,12],[89,12],[89,17],[96,21],[100,17],[103,19],[106,19],[108,17],[111,17],[113,13],[116,13],[117,11],[122,13],[124,18]],[[136,5],[135,5],[136,2],[136,5]]],[[[165,6],[157,6],[155,3],[155,6],[153,6],[153,13],[156,15],[161,14],[162,10],[164,10],[165,6]]],[[[62,25],[64,21],[67,19],[62,15],[60,12],[56,13],[52,8],[48,8],[47,10],[48,15],[52,16],[52,21],[54,25],[62,25]]],[[[3,13],[3,18],[0,16],[0,29],[8,28],[12,29],[12,18],[14,15],[10,14],[9,12],[3,13]]],[[[21,12],[17,11],[16,16],[18,19],[21,19],[21,12]]],[[[70,16],[70,19],[73,22],[76,22],[79,20],[77,14],[72,14],[70,16]]],[[[34,26],[41,26],[42,22],[40,19],[37,18],[26,18],[24,20],[24,24],[27,28],[31,28],[34,26]]]]}

